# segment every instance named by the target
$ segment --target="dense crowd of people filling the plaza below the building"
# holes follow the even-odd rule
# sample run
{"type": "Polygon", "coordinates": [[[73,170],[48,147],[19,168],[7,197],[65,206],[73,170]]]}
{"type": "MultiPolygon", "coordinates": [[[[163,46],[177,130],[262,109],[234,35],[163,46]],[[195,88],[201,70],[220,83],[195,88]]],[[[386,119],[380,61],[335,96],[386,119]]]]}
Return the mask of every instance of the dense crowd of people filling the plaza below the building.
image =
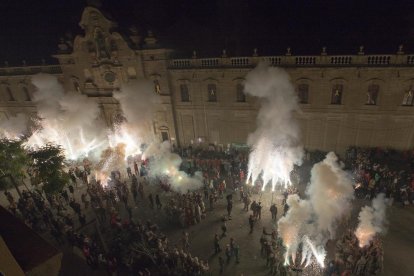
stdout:
{"type": "MultiPolygon", "coordinates": [[[[209,211],[213,211],[219,200],[227,202],[227,213],[222,217],[222,233],[214,237],[214,251],[218,256],[220,271],[232,259],[240,262],[240,246],[233,238],[227,237],[226,221],[232,219],[235,200],[243,203],[243,210],[251,211],[248,216],[250,233],[262,219],[263,204],[254,200],[260,193],[260,183],[251,187],[245,185],[247,153],[243,151],[212,151],[201,149],[175,149],[183,158],[181,169],[188,174],[200,171],[204,186],[197,191],[179,193],[172,191],[168,183],[145,176],[150,168],[134,162],[126,174],[112,172],[111,181],[104,185],[90,176],[90,170],[74,168],[70,170],[71,183],[62,192],[45,195],[39,190],[24,191],[16,201],[5,192],[9,210],[38,232],[48,233],[58,246],[69,244],[77,247],[93,269],[105,268],[109,272],[128,271],[133,275],[206,275],[210,272],[207,261],[192,256],[188,233],[183,232],[182,246],[169,245],[168,238],[160,227],[134,218],[132,211],[141,203],[149,208],[165,212],[172,226],[183,229],[201,223],[209,211]],[[82,183],[85,189],[76,187],[82,183]],[[130,184],[127,184],[130,183],[130,184]],[[157,184],[163,194],[147,191],[147,187],[157,184]],[[75,187],[75,188],[74,188],[75,187]],[[78,192],[79,191],[79,192],[78,192]],[[76,192],[80,193],[75,196],[76,192]],[[236,198],[237,197],[237,198],[236,198]],[[78,199],[75,199],[78,198],[78,199]],[[128,218],[122,218],[125,210],[128,218]],[[85,231],[87,214],[93,214],[100,231],[85,231]],[[221,255],[223,251],[224,255],[221,255]]],[[[414,196],[414,156],[412,152],[395,152],[379,149],[351,148],[345,156],[347,168],[355,176],[357,196],[372,199],[378,193],[385,193],[390,202],[401,202],[403,206],[413,203],[414,196]],[[398,163],[397,161],[398,160],[398,163]]],[[[295,168],[293,175],[298,179],[303,168],[295,168]]],[[[304,177],[306,178],[306,177],[304,177]]],[[[286,199],[298,193],[296,188],[282,191],[279,213],[289,210],[286,199]]],[[[273,202],[266,206],[275,223],[278,207],[273,202]]],[[[141,208],[141,207],[139,207],[141,208]]],[[[138,210],[139,210],[138,208],[138,210]]],[[[92,220],[93,220],[92,218],[92,220]]],[[[91,220],[91,218],[89,218],[91,220]]],[[[261,256],[266,260],[270,275],[286,275],[295,267],[285,266],[284,247],[277,231],[273,228],[262,230],[260,238],[261,256]]],[[[337,241],[335,258],[328,264],[327,275],[371,275],[382,270],[382,246],[375,238],[368,247],[360,248],[355,235],[347,232],[337,241]],[[342,274],[341,274],[342,273],[342,274]]]]}

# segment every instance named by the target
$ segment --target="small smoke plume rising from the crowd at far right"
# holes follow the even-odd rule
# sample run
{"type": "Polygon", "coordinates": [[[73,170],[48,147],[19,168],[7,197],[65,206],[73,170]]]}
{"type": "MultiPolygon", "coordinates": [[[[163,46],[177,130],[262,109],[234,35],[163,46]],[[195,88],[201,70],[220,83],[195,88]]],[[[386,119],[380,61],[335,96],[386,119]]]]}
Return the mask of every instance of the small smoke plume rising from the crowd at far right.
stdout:
{"type": "Polygon", "coordinates": [[[372,207],[364,206],[359,213],[359,224],[355,231],[359,246],[369,245],[377,233],[385,231],[385,196],[379,194],[372,200],[372,207]]]}

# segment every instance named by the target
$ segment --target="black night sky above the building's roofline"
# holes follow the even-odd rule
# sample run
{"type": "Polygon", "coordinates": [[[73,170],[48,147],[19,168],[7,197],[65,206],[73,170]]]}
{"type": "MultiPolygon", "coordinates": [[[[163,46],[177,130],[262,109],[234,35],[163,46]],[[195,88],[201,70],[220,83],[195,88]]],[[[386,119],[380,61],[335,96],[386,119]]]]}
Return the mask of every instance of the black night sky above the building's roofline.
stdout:
{"type": "MultiPolygon", "coordinates": [[[[177,56],[414,52],[414,1],[389,0],[103,0],[119,31],[152,29],[177,56]]],[[[0,65],[50,58],[59,37],[81,32],[86,0],[1,0],[0,65]]]]}

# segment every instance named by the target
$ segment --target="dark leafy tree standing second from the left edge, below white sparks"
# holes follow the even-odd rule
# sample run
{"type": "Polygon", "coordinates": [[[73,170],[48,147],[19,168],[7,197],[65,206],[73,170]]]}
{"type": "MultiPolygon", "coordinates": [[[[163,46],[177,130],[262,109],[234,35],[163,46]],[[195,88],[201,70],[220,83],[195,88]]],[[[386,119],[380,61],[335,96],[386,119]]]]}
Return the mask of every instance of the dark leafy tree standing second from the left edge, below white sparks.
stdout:
{"type": "Polygon", "coordinates": [[[65,172],[65,155],[60,146],[46,144],[45,146],[30,150],[30,170],[43,190],[47,194],[62,191],[69,182],[69,174],[65,172]]]}

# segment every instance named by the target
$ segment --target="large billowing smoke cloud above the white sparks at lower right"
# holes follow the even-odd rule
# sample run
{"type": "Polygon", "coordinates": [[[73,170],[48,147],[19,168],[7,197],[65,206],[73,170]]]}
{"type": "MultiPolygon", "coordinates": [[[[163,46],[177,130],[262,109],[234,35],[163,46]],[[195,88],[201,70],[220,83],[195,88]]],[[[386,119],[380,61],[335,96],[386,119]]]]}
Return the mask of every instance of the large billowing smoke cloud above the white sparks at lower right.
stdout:
{"type": "Polygon", "coordinates": [[[294,261],[298,245],[302,243],[302,263],[306,265],[314,256],[322,267],[326,256],[325,245],[335,237],[339,220],[351,211],[352,181],[342,170],[333,152],[315,164],[311,170],[308,199],[290,196],[289,210],[278,221],[279,234],[287,248],[285,263],[294,261]]]}

